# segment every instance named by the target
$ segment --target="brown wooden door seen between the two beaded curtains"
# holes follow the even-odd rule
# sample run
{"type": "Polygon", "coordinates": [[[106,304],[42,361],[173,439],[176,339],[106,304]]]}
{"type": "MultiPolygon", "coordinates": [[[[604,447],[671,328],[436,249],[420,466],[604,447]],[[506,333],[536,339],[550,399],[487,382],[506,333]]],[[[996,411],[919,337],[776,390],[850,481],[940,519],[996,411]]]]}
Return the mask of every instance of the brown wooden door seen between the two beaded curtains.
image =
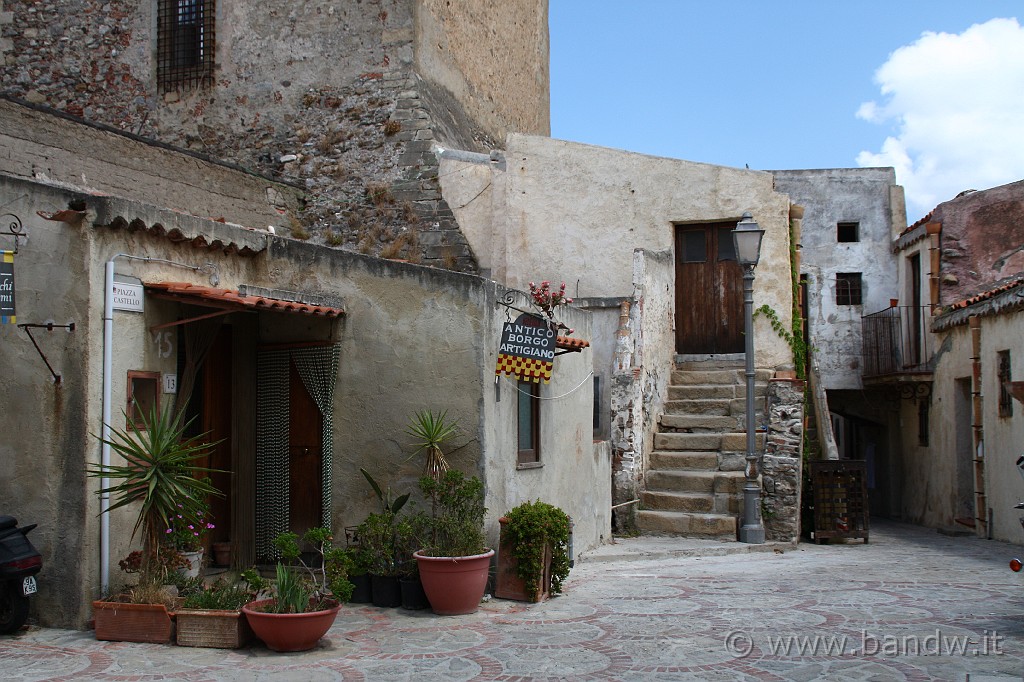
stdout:
{"type": "Polygon", "coordinates": [[[292,365],[289,395],[289,529],[302,535],[322,525],[323,417],[292,365]]]}

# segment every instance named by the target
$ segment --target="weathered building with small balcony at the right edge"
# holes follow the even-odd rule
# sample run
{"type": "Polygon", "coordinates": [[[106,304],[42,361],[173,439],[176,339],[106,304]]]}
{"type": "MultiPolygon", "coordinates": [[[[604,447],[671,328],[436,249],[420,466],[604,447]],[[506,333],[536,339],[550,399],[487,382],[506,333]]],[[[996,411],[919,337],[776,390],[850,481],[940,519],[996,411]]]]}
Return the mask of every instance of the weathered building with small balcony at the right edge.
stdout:
{"type": "Polygon", "coordinates": [[[898,512],[910,522],[1022,540],[1022,230],[1019,181],[965,191],[894,241],[901,303],[865,321],[865,360],[902,397],[898,512]]]}

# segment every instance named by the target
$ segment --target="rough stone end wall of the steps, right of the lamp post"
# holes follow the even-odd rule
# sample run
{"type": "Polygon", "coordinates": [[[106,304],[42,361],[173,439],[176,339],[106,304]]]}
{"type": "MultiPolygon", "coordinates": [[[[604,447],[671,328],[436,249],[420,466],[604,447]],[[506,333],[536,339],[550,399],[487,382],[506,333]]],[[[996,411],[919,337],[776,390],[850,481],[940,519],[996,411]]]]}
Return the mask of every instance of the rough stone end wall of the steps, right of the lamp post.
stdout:
{"type": "Polygon", "coordinates": [[[800,538],[804,382],[773,379],[766,396],[768,437],[761,465],[762,522],[769,541],[800,538]]]}

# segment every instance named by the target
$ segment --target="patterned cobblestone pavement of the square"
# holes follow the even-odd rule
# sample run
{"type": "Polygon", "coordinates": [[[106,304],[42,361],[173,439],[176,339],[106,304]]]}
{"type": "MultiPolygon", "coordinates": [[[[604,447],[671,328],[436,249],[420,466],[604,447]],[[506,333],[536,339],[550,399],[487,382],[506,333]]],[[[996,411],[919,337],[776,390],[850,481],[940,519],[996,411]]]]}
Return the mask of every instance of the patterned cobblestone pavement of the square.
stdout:
{"type": "Polygon", "coordinates": [[[1008,567],[1020,550],[895,523],[868,545],[623,540],[542,604],[347,606],[316,649],[291,654],[32,627],[0,638],[0,678],[1024,680],[1024,576],[1008,567]]]}

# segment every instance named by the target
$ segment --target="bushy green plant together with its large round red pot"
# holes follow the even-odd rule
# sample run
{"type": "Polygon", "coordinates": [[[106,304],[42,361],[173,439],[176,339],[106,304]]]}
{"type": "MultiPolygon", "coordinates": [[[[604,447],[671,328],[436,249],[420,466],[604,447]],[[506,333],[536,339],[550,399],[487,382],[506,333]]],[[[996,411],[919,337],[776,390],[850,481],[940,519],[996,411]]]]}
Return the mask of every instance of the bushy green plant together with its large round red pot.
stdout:
{"type": "Polygon", "coordinates": [[[493,549],[484,547],[483,483],[449,470],[438,480],[420,478],[431,514],[417,551],[420,580],[435,613],[456,615],[477,609],[487,586],[493,549]]]}

